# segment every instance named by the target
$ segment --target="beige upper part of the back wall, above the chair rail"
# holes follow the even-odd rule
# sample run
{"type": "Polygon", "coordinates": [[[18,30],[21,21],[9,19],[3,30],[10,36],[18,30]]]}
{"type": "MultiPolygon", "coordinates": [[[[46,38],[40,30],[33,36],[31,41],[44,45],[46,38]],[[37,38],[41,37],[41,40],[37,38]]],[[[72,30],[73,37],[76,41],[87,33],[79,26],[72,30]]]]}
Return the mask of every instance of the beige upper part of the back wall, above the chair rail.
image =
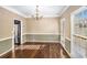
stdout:
{"type": "Polygon", "coordinates": [[[26,33],[58,33],[58,18],[26,19],[26,33]]]}

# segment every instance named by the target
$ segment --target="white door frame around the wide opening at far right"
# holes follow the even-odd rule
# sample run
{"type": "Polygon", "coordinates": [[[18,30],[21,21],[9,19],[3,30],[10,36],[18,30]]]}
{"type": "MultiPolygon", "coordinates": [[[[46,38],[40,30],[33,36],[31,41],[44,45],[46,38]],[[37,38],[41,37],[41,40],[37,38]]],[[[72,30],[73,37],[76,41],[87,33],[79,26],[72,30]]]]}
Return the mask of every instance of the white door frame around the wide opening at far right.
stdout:
{"type": "Polygon", "coordinates": [[[77,10],[75,10],[74,12],[70,13],[70,55],[72,57],[74,57],[74,18],[75,18],[75,14],[79,13],[80,11],[83,10],[86,10],[87,7],[80,7],[78,8],[77,10]]]}

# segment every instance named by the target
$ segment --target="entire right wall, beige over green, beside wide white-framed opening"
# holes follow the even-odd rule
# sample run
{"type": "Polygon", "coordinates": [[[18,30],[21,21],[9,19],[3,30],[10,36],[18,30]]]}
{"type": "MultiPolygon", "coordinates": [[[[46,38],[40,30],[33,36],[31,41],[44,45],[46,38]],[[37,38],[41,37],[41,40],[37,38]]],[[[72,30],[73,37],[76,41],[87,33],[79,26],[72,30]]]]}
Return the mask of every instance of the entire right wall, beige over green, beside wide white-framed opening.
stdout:
{"type": "MultiPolygon", "coordinates": [[[[70,6],[61,17],[61,19],[65,19],[65,50],[68,53],[68,55],[70,56],[70,14],[77,10],[78,8],[80,8],[80,6],[70,6]]],[[[59,21],[61,22],[61,21],[59,21]]],[[[61,25],[61,24],[59,24],[61,25]]],[[[61,31],[59,31],[61,33],[61,31]]]]}

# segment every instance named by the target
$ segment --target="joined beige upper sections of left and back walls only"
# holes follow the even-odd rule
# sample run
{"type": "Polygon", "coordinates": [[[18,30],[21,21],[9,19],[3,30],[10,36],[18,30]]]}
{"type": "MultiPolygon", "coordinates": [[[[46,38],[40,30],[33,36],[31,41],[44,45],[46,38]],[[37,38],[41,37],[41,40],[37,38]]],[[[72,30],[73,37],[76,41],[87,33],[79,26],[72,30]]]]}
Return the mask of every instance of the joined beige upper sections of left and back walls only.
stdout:
{"type": "Polygon", "coordinates": [[[22,18],[17,13],[13,13],[0,7],[0,40],[12,36],[14,19],[22,20],[23,33],[58,34],[59,31],[58,18],[43,18],[39,21],[35,21],[32,18],[22,18]]]}

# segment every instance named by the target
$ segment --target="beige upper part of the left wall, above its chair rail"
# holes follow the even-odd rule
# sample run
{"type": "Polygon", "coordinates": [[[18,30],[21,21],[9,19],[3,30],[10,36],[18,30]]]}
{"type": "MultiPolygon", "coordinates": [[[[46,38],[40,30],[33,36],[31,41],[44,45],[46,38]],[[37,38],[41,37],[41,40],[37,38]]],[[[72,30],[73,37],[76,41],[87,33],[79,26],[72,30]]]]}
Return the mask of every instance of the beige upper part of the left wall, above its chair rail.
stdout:
{"type": "MultiPolygon", "coordinates": [[[[14,19],[25,22],[24,18],[0,7],[0,39],[6,39],[12,35],[14,19]]],[[[25,25],[23,24],[23,26],[25,25]]],[[[23,32],[25,32],[24,29],[23,32]]]]}

